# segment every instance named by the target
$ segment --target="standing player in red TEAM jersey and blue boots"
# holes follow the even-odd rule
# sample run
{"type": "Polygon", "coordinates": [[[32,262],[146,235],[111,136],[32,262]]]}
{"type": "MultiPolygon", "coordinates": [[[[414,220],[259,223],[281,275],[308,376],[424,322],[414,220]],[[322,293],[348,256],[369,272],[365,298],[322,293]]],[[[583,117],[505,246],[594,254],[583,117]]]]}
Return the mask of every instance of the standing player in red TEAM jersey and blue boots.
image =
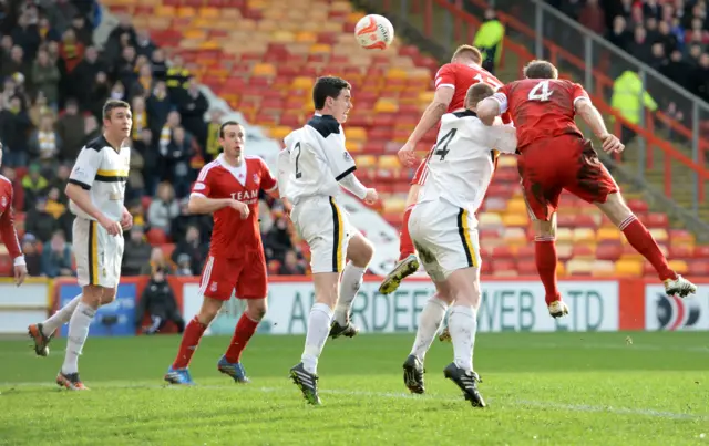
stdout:
{"type": "Polygon", "coordinates": [[[219,372],[235,382],[247,383],[240,357],[266,313],[268,281],[266,259],[258,226],[258,191],[276,193],[278,185],[266,163],[244,154],[244,127],[234,121],[222,124],[223,153],[199,172],[189,196],[189,211],[213,214],[214,229],[209,257],[202,271],[199,313],[187,323],[175,362],[165,374],[172,384],[194,384],[188,365],[199,340],[224,302],[246,300],[246,311],[218,363],[219,372]]]}

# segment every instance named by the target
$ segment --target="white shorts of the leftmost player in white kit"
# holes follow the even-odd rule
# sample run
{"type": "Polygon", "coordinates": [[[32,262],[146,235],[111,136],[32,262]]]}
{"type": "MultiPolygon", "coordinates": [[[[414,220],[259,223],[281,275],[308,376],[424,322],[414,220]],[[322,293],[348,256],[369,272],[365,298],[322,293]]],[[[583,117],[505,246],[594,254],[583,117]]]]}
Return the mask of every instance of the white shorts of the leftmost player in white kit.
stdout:
{"type": "Polygon", "coordinates": [[[121,280],[123,235],[110,236],[97,221],[76,217],[73,227],[79,286],[115,288],[121,280]]]}

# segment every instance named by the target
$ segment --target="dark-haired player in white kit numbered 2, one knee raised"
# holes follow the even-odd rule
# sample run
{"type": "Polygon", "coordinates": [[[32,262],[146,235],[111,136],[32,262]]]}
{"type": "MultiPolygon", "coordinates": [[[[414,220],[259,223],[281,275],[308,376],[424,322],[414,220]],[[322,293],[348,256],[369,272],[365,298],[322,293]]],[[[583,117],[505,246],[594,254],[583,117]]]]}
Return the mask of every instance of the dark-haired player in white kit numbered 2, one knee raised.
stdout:
{"type": "Polygon", "coordinates": [[[340,77],[319,77],[312,101],[315,116],[285,138],[278,183],[281,196],[292,204],[290,219],[310,247],[315,286],[305,350],[301,362],[290,369],[290,376],[310,404],[320,404],[318,357],[328,334],[357,334],[349,313],[374,253],[371,242],[350,226],[337,197],[340,186],[368,204],[378,196],[357,179],[357,166],[345,148],[341,124],[352,108],[350,84],[340,77]]]}

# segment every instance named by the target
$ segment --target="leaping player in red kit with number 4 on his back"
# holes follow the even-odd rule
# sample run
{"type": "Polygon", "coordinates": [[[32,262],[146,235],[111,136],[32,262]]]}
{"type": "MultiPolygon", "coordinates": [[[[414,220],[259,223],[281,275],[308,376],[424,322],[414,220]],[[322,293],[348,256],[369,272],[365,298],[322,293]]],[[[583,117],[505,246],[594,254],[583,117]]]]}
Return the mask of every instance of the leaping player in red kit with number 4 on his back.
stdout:
{"type": "Polygon", "coordinates": [[[517,166],[524,198],[534,220],[535,259],[546,291],[546,303],[554,318],[568,314],[556,283],[556,210],[562,189],[595,204],[639,253],[657,270],[668,295],[681,298],[697,287],[672,271],[667,259],[625,204],[590,141],[574,122],[579,115],[603,143],[607,153],[625,146],[606,129],[603,117],[579,84],[558,80],[556,68],[546,61],[533,61],[524,70],[526,79],[500,89],[477,106],[477,115],[491,125],[494,117],[510,112],[517,128],[517,166]]]}

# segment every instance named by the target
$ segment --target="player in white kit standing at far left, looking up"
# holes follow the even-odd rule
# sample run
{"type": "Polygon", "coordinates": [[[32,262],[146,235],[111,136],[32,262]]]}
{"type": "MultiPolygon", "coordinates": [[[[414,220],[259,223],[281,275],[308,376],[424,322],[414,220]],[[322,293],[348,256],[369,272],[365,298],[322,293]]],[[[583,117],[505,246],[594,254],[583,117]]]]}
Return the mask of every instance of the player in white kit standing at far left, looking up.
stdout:
{"type": "Polygon", "coordinates": [[[131,147],[126,143],[132,124],[130,105],[109,100],[103,106],[103,135],[79,153],[65,191],[71,200],[69,208],[76,216],[72,234],[82,291],[47,321],[28,329],[34,351],[45,356],[54,331],[69,322],[66,354],[56,384],[72,391],[88,388],[79,378],[79,355],[96,310],[115,299],[123,230],[133,225],[133,217],[123,205],[131,162],[131,147]]]}

